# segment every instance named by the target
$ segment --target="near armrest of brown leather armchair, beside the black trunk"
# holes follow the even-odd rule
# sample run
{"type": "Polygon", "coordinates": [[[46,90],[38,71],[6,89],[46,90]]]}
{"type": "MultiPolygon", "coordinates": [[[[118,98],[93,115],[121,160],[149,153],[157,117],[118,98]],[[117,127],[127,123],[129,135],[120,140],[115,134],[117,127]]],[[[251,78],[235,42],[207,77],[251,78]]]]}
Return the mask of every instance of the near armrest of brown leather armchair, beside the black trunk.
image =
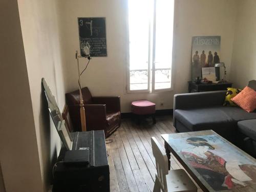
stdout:
{"type": "Polygon", "coordinates": [[[103,130],[106,126],[106,105],[105,104],[85,104],[86,125],[89,129],[103,130]]]}

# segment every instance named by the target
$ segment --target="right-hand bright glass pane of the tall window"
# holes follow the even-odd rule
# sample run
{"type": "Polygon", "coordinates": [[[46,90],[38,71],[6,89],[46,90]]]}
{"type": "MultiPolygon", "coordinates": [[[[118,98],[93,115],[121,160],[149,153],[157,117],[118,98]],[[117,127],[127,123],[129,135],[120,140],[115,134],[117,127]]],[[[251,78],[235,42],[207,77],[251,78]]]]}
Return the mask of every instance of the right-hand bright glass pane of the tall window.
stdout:
{"type": "Polygon", "coordinates": [[[155,89],[170,88],[174,0],[156,1],[155,89]]]}

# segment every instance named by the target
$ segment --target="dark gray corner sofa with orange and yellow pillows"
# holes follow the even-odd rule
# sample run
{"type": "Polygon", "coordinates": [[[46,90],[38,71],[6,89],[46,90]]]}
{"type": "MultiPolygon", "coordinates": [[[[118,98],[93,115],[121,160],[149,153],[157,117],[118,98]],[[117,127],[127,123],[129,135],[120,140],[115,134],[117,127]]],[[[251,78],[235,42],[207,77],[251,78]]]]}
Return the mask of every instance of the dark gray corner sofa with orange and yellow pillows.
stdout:
{"type": "MultiPolygon", "coordinates": [[[[256,81],[248,86],[256,90],[256,81]]],[[[247,145],[255,141],[256,146],[256,112],[223,106],[225,95],[226,91],[176,94],[173,122],[177,132],[211,129],[237,145],[240,138],[249,137],[247,145]]]]}

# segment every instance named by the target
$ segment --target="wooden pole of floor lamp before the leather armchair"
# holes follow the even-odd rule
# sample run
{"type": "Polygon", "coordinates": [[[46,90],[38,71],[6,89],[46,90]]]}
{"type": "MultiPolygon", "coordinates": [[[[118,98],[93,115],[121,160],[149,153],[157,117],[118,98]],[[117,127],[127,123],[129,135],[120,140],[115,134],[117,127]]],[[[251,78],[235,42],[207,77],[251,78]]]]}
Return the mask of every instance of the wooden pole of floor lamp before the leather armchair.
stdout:
{"type": "Polygon", "coordinates": [[[83,106],[82,90],[81,90],[81,79],[80,79],[80,69],[79,69],[79,59],[78,51],[76,51],[77,69],[78,69],[78,82],[79,82],[79,94],[80,94],[80,118],[81,118],[81,128],[82,131],[87,131],[86,129],[86,110],[83,106]]]}

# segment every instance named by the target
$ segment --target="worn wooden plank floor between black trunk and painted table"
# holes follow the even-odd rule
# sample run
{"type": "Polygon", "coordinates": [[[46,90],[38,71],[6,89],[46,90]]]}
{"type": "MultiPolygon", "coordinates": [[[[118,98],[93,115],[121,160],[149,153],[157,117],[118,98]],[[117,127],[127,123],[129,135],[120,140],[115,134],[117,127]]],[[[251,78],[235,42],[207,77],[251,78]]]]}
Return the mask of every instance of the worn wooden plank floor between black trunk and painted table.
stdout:
{"type": "MultiPolygon", "coordinates": [[[[131,119],[122,119],[121,126],[106,141],[109,155],[110,191],[153,191],[156,175],[151,137],[164,147],[161,134],[175,133],[172,116],[157,117],[157,123],[145,119],[138,126],[131,119]]],[[[171,169],[183,168],[175,157],[171,169]]],[[[199,191],[202,191],[199,189],[199,191]]]]}

